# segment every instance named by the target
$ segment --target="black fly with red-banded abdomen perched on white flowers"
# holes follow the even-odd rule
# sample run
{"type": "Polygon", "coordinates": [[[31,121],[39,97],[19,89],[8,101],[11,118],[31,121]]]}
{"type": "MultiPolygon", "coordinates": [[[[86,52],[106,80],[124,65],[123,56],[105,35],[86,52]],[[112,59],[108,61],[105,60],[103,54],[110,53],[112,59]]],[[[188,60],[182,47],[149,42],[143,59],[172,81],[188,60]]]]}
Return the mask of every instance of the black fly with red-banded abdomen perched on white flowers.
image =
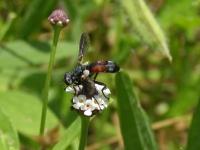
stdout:
{"type": "MultiPolygon", "coordinates": [[[[64,75],[64,82],[74,91],[74,96],[83,95],[86,99],[94,99],[100,110],[100,103],[97,99],[103,96],[108,100],[110,93],[106,84],[96,81],[99,73],[115,73],[119,71],[119,67],[113,61],[96,61],[90,64],[83,64],[83,56],[89,45],[89,37],[86,33],[82,33],[79,43],[79,54],[77,66],[64,75]]],[[[81,105],[82,106],[82,105],[81,105]]]]}

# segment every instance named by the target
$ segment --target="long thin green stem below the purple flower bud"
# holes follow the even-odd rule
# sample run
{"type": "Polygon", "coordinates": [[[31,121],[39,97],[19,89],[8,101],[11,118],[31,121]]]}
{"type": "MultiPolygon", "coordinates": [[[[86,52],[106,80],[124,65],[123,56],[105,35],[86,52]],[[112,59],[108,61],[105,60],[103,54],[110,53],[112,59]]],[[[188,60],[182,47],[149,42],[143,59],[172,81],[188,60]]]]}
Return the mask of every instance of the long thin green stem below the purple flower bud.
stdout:
{"type": "Polygon", "coordinates": [[[41,115],[41,122],[40,122],[40,135],[44,134],[44,129],[45,129],[49,86],[50,86],[51,74],[52,74],[53,64],[55,60],[56,48],[57,48],[60,31],[61,31],[61,27],[59,26],[54,27],[53,44],[52,44],[51,53],[50,53],[48,72],[47,72],[45,85],[44,85],[44,89],[42,93],[43,106],[42,106],[42,115],[41,115]]]}

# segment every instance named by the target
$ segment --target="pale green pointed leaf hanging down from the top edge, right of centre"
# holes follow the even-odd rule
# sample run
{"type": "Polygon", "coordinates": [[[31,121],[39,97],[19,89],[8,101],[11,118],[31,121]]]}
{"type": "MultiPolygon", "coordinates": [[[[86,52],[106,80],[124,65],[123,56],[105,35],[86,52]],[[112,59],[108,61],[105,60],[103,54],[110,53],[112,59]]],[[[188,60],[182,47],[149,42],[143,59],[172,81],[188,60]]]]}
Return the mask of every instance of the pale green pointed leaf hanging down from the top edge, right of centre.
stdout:
{"type": "Polygon", "coordinates": [[[172,57],[164,33],[144,0],[123,0],[121,3],[130,17],[134,30],[146,43],[155,45],[171,61],[172,57]]]}

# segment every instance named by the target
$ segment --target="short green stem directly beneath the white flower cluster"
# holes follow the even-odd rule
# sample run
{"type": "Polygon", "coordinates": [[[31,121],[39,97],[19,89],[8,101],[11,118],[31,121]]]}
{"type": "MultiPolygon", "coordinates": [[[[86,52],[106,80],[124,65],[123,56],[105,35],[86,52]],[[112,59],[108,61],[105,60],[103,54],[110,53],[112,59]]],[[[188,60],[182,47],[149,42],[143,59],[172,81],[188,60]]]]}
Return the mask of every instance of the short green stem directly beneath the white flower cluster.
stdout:
{"type": "Polygon", "coordinates": [[[89,123],[90,123],[90,117],[81,116],[81,137],[78,148],[79,150],[84,150],[87,144],[89,123]]]}

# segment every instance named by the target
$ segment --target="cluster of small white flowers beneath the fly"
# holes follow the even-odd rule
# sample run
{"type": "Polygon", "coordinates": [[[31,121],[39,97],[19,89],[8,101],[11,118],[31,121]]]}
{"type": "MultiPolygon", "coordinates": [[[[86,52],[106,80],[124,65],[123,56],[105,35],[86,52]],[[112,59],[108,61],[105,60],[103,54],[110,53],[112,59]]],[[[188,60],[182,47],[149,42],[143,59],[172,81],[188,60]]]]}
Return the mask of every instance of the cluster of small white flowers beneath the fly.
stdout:
{"type": "Polygon", "coordinates": [[[110,95],[110,90],[103,85],[95,84],[98,94],[94,95],[92,98],[87,98],[85,95],[78,94],[82,90],[82,85],[77,85],[74,87],[67,87],[66,92],[74,94],[72,100],[72,106],[74,109],[80,111],[85,116],[92,116],[97,112],[104,110],[108,106],[108,100],[110,95]],[[103,89],[104,88],[104,89],[103,89]],[[102,91],[103,90],[103,91],[102,91]]]}

